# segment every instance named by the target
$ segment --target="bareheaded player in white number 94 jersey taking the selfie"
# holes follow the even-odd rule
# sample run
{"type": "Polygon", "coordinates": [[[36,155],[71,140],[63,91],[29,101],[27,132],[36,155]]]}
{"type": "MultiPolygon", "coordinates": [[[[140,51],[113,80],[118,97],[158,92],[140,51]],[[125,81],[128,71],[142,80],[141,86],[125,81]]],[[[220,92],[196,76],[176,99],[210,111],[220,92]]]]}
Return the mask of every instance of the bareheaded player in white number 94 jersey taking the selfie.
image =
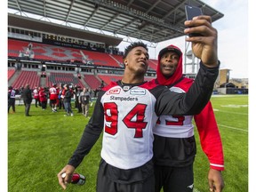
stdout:
{"type": "Polygon", "coordinates": [[[211,17],[200,16],[185,22],[185,34],[193,51],[201,58],[195,83],[187,93],[170,92],[155,81],[144,82],[148,70],[148,48],[143,43],[130,44],[124,51],[124,76],[99,92],[92,117],[68,161],[58,173],[60,186],[67,188],[76,167],[81,164],[103,132],[97,192],[153,192],[153,126],[160,115],[195,115],[212,95],[219,74],[217,30],[211,17]],[[196,26],[193,27],[193,26],[196,26]],[[190,28],[189,28],[190,27],[190,28]],[[61,177],[66,173],[64,178],[61,177]]]}

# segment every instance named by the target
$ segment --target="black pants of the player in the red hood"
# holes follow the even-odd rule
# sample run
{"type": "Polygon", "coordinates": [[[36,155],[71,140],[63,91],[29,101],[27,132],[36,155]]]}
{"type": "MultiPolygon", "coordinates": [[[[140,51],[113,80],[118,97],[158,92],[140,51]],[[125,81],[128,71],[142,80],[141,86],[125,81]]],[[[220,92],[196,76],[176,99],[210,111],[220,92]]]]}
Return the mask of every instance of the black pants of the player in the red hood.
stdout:
{"type": "Polygon", "coordinates": [[[156,192],[192,192],[194,188],[193,164],[184,167],[155,165],[156,192]]]}

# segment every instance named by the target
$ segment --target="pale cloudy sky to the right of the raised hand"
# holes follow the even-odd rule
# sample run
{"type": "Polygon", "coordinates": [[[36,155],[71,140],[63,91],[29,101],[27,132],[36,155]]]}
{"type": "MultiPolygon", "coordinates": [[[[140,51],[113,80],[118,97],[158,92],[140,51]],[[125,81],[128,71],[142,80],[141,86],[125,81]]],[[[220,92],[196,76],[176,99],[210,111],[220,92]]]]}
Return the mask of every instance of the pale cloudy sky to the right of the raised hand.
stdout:
{"type": "Polygon", "coordinates": [[[220,68],[229,68],[230,76],[248,76],[248,2],[246,0],[204,0],[224,17],[212,25],[219,32],[220,68]],[[243,66],[243,67],[242,67],[243,66]]]}

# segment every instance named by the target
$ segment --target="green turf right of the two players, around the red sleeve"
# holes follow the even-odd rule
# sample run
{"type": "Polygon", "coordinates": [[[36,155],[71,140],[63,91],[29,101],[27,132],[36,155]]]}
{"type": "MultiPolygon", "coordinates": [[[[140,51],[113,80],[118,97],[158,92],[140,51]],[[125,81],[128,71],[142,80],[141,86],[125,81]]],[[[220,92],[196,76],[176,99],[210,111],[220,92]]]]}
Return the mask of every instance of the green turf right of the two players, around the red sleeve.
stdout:
{"type": "MultiPolygon", "coordinates": [[[[224,150],[225,171],[223,178],[226,192],[248,191],[248,96],[213,96],[212,108],[219,124],[224,150]]],[[[197,156],[194,167],[194,191],[208,191],[208,161],[197,132],[197,156]]]]}

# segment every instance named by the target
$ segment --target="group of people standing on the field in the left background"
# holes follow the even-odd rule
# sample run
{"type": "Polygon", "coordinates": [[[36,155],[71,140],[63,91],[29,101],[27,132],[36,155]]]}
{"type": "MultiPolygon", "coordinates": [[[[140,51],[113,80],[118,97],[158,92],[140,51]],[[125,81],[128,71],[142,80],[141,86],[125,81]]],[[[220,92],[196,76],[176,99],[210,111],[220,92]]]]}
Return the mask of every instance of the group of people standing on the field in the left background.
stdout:
{"type": "MultiPolygon", "coordinates": [[[[12,113],[15,113],[15,100],[16,100],[17,91],[8,87],[8,113],[12,108],[12,113]]],[[[57,108],[65,109],[66,114],[64,116],[74,116],[71,100],[75,98],[75,108],[77,108],[78,113],[83,113],[85,117],[89,113],[89,105],[92,102],[91,93],[87,88],[84,87],[82,90],[81,87],[75,87],[73,89],[70,85],[64,84],[57,86],[57,84],[52,84],[50,88],[36,86],[34,89],[30,88],[29,84],[26,84],[24,89],[22,89],[20,98],[23,100],[25,105],[25,116],[30,116],[30,105],[32,100],[35,100],[36,108],[41,107],[42,110],[47,108],[48,100],[50,108],[53,113],[56,113],[57,108]]]]}

